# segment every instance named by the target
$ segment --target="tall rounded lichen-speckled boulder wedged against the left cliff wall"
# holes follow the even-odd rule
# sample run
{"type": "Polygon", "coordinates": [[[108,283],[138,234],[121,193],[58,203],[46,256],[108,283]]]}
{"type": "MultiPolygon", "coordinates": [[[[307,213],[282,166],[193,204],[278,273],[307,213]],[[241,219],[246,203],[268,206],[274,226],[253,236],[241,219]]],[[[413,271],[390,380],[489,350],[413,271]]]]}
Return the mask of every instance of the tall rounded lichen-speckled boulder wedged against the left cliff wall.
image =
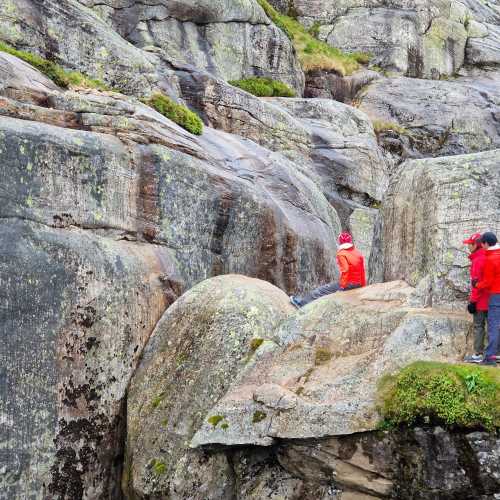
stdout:
{"type": "MultiPolygon", "coordinates": [[[[193,434],[238,373],[253,364],[268,332],[292,311],[288,297],[269,283],[227,275],[195,286],[166,312],[129,390],[128,498],[181,499],[196,490],[199,454],[189,448],[193,434]]],[[[213,428],[227,426],[217,415],[209,422],[213,428]]],[[[195,498],[233,498],[225,493],[231,486],[226,460],[206,458],[203,467],[212,469],[209,477],[218,486],[202,478],[205,496],[197,492],[195,498]]]]}

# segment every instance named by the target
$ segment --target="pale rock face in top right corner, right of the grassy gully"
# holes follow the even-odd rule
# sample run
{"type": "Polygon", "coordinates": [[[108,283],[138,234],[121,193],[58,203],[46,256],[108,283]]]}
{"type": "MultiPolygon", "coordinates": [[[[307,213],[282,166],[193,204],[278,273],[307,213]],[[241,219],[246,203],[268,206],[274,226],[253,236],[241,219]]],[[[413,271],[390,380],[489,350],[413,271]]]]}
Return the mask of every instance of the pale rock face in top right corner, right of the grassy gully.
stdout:
{"type": "Polygon", "coordinates": [[[417,78],[439,79],[467,64],[500,62],[500,14],[494,3],[479,0],[423,2],[331,2],[282,0],[321,39],[348,52],[373,55],[372,64],[417,78]]]}

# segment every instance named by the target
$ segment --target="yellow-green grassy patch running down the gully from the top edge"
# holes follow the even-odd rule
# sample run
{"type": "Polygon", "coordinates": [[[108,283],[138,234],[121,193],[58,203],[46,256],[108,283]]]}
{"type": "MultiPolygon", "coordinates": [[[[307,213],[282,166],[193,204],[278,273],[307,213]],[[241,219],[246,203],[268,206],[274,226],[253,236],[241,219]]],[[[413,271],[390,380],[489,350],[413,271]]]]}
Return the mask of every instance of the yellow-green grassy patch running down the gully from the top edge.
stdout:
{"type": "Polygon", "coordinates": [[[319,26],[313,26],[308,31],[297,20],[280,14],[267,0],[257,1],[269,19],[290,38],[304,71],[333,70],[345,76],[359,69],[360,64],[366,64],[370,60],[370,54],[361,52],[346,54],[335,47],[330,47],[315,38],[319,33],[319,26]]]}

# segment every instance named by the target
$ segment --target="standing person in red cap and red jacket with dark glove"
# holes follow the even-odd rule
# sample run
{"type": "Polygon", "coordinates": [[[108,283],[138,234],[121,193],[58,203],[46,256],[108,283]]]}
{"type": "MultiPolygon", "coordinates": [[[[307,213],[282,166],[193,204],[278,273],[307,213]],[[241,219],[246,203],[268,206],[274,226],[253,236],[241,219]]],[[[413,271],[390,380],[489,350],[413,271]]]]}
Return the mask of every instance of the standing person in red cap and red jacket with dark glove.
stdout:
{"type": "Polygon", "coordinates": [[[484,341],[486,338],[486,320],[488,319],[488,290],[479,289],[476,285],[483,279],[486,263],[486,250],[482,247],[481,234],[474,233],[464,240],[469,247],[471,292],[467,310],[473,315],[474,322],[474,354],[465,356],[468,363],[480,363],[483,360],[484,341]]]}

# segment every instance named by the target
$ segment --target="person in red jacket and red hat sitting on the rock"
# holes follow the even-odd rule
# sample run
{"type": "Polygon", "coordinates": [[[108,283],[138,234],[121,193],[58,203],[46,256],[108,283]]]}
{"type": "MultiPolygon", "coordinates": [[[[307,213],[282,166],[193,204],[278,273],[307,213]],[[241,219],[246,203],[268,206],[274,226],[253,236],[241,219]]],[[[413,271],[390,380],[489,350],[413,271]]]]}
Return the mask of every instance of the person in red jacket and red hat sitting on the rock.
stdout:
{"type": "Polygon", "coordinates": [[[322,285],[302,296],[291,295],[290,302],[295,307],[304,307],[309,302],[331,293],[366,286],[365,259],[355,248],[352,236],[349,233],[342,233],[338,242],[337,264],[340,270],[340,281],[322,285]]]}

